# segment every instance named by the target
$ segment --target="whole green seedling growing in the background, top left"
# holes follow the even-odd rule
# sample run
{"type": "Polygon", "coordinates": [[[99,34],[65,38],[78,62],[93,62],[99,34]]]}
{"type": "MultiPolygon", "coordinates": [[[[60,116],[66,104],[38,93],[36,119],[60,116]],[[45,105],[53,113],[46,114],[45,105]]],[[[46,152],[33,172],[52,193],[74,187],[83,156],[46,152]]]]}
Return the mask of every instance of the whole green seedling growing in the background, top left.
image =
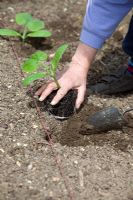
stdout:
{"type": "Polygon", "coordinates": [[[23,26],[23,33],[8,28],[0,29],[0,36],[20,37],[25,41],[28,37],[50,37],[51,32],[45,29],[43,21],[33,18],[29,13],[16,14],[16,23],[23,26]]]}

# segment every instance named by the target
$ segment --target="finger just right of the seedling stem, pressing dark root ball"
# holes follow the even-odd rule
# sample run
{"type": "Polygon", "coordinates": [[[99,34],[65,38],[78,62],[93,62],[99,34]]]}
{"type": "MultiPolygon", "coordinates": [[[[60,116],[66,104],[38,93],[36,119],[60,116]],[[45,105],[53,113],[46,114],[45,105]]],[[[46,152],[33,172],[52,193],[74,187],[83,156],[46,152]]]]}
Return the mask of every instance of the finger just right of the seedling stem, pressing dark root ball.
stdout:
{"type": "Polygon", "coordinates": [[[53,98],[51,105],[56,105],[69,91],[69,88],[60,88],[56,94],[56,96],[53,98]]]}

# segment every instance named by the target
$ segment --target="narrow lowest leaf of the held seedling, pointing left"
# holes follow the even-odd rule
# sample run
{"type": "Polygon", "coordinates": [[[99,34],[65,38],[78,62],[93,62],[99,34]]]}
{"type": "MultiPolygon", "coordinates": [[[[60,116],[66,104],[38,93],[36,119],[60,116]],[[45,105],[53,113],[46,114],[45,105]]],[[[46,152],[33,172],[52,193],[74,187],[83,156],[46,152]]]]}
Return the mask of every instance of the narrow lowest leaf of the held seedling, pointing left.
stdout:
{"type": "Polygon", "coordinates": [[[26,78],[22,81],[22,83],[23,83],[24,86],[28,86],[28,85],[30,85],[33,81],[38,80],[38,79],[40,79],[40,78],[44,78],[44,77],[46,77],[46,75],[45,75],[44,73],[35,73],[35,74],[32,74],[32,75],[26,77],[26,78]]]}

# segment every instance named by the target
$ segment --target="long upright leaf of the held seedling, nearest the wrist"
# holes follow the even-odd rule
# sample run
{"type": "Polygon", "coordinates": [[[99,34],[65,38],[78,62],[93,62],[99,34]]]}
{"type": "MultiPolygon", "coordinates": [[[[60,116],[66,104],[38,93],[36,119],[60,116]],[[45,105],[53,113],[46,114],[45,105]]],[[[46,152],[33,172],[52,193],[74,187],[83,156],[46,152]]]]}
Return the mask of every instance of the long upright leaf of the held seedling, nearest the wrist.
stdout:
{"type": "Polygon", "coordinates": [[[68,48],[68,44],[63,44],[57,49],[57,51],[56,51],[56,53],[55,53],[55,55],[54,55],[54,57],[51,61],[52,69],[53,69],[54,72],[58,68],[58,64],[59,64],[59,62],[60,62],[60,60],[61,60],[61,58],[62,58],[62,56],[65,53],[67,48],[68,48]]]}

